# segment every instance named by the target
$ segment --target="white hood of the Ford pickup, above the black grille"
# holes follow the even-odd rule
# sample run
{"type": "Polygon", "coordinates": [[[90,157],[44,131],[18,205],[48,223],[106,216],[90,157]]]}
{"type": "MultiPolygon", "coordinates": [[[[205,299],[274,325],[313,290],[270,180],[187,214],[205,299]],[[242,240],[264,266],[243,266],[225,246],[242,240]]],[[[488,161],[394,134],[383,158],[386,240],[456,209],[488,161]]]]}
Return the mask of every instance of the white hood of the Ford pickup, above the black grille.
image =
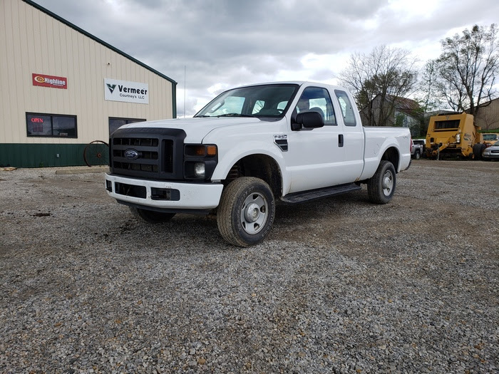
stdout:
{"type": "Polygon", "coordinates": [[[175,118],[173,120],[158,120],[148,122],[136,122],[123,125],[120,128],[175,128],[182,129],[187,134],[186,143],[201,143],[203,138],[212,130],[225,128],[227,126],[239,126],[246,124],[263,123],[258,118],[234,118],[234,117],[197,117],[197,118],[175,118]]]}

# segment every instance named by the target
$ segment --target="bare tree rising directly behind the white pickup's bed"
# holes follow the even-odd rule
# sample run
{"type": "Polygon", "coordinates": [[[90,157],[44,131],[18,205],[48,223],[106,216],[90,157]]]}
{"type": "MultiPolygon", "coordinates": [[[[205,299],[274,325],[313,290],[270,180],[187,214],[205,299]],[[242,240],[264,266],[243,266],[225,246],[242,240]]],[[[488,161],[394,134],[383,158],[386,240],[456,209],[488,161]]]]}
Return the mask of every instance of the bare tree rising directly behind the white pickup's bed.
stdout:
{"type": "Polygon", "coordinates": [[[366,124],[393,124],[397,100],[403,100],[416,87],[415,63],[409,51],[387,46],[350,55],[349,66],[339,79],[354,94],[366,124]]]}

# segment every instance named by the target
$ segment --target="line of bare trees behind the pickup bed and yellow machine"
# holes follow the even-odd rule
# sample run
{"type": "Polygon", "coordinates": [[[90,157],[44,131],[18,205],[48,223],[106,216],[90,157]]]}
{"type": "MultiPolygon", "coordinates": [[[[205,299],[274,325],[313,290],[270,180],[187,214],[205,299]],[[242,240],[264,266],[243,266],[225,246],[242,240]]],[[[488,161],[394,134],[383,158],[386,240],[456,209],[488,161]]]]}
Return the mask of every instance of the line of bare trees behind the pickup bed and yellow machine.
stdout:
{"type": "Polygon", "coordinates": [[[475,25],[441,40],[441,55],[422,69],[410,51],[376,46],[369,53],[352,53],[339,80],[354,94],[369,125],[389,123],[408,97],[421,114],[449,109],[477,115],[498,97],[498,42],[496,24],[475,25]]]}

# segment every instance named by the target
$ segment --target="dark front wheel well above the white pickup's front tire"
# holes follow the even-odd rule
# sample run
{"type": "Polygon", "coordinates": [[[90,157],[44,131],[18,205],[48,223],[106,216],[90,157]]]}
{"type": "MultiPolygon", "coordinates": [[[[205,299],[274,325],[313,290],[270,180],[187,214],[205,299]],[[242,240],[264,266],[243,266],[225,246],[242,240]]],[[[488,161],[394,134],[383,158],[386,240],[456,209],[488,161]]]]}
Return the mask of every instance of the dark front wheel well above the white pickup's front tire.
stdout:
{"type": "Polygon", "coordinates": [[[224,187],[239,177],[257,177],[267,182],[275,197],[281,196],[282,175],[277,162],[267,155],[249,155],[237,161],[230,168],[224,187]]]}

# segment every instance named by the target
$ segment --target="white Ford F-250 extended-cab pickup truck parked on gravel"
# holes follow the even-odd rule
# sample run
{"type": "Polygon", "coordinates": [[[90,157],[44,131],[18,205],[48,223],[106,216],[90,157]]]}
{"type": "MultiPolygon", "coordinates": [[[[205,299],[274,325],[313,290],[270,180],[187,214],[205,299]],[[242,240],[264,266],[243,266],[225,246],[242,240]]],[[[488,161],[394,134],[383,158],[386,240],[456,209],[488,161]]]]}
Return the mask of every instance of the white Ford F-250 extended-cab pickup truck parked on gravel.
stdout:
{"type": "Polygon", "coordinates": [[[363,128],[345,88],[309,82],[247,85],[193,118],[125,125],[110,136],[108,194],[146,222],[216,212],[236,246],[269,234],[276,201],[361,189],[386,204],[411,163],[407,128],[363,128]]]}

